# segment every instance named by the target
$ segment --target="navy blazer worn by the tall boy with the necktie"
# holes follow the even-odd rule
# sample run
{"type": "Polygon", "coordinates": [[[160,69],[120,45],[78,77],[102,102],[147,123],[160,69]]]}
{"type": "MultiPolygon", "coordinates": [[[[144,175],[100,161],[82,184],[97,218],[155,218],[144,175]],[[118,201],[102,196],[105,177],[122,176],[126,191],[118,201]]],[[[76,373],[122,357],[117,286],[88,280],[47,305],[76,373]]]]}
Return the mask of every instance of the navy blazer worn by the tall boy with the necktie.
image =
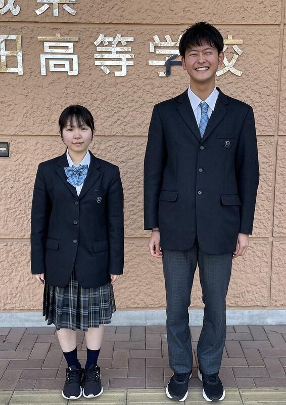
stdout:
{"type": "Polygon", "coordinates": [[[185,251],[198,237],[207,254],[234,252],[251,234],[259,167],[252,107],[219,96],[200,136],[187,90],[155,105],[145,156],[145,229],[163,249],[185,251]]]}

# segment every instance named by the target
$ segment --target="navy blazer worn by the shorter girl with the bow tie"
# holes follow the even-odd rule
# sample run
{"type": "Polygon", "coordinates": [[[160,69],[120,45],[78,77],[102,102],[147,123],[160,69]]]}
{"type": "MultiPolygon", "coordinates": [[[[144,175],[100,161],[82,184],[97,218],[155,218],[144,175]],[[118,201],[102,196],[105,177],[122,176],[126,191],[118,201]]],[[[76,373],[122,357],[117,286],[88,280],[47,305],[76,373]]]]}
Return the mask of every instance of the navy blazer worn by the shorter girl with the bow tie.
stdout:
{"type": "Polygon", "coordinates": [[[90,153],[79,196],[67,182],[66,152],[38,166],[31,216],[32,274],[67,285],[73,268],[84,288],[123,273],[123,190],[117,166],[90,153]]]}

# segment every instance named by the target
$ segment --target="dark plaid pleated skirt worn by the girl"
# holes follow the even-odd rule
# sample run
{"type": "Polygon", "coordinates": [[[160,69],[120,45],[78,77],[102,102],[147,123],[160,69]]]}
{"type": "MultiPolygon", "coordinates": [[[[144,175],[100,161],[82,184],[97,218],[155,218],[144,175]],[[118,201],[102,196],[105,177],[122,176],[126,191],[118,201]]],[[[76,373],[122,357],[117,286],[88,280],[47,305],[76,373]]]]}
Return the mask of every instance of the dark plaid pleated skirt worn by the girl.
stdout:
{"type": "Polygon", "coordinates": [[[98,288],[83,288],[74,272],[65,287],[53,287],[45,283],[43,292],[43,316],[47,325],[56,330],[67,328],[86,332],[110,323],[116,311],[112,284],[98,288]]]}

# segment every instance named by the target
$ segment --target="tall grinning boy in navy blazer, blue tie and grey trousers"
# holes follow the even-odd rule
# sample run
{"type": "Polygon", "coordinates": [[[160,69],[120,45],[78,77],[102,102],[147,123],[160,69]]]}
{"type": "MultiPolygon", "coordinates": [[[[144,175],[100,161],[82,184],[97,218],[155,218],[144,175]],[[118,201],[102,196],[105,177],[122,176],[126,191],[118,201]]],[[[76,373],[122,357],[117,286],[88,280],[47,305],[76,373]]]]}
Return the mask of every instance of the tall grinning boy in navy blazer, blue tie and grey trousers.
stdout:
{"type": "Polygon", "coordinates": [[[226,336],[225,299],[232,259],[252,233],[259,182],[253,109],[215,87],[223,38],[199,22],[179,52],[190,84],[155,105],[145,156],[145,229],[150,253],[163,257],[171,377],[166,393],[184,401],[193,358],[188,306],[199,265],[204,320],[198,377],[207,401],[225,396],[218,373],[226,336]],[[160,247],[162,253],[160,252],[160,247]]]}

